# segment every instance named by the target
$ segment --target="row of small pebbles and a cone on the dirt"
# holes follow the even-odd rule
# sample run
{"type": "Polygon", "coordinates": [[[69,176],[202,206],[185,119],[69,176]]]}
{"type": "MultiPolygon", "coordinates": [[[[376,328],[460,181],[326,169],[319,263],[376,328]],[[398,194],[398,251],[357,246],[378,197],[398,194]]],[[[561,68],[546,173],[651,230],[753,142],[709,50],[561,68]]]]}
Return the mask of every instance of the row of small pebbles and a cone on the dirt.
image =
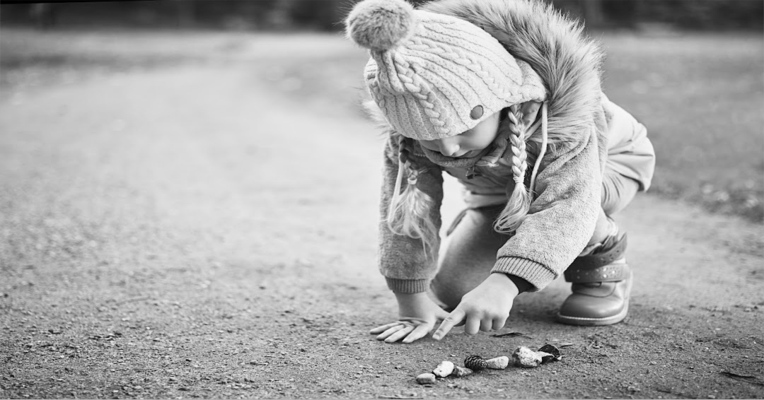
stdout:
{"type": "MultiPolygon", "coordinates": [[[[536,368],[543,363],[557,361],[561,358],[560,350],[552,344],[545,344],[536,351],[520,346],[512,353],[513,364],[523,368],[536,368]]],[[[481,369],[505,369],[509,365],[510,357],[508,356],[498,356],[488,360],[481,356],[468,356],[465,358],[465,366],[457,366],[451,361],[442,361],[432,370],[432,373],[421,373],[416,376],[416,382],[419,385],[432,385],[436,378],[445,378],[446,376],[461,378],[461,376],[467,376],[481,369]]]]}

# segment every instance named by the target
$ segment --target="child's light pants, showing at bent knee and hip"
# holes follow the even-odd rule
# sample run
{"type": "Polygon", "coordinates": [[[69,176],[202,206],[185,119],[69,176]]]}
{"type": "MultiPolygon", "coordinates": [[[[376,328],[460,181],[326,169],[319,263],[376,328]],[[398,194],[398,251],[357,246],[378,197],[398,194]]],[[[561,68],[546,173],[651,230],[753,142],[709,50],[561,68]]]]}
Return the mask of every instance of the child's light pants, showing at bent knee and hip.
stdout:
{"type": "MultiPolygon", "coordinates": [[[[610,234],[610,215],[625,208],[639,190],[636,180],[607,169],[602,180],[602,210],[589,244],[600,243],[610,234]]],[[[441,264],[430,283],[432,295],[447,309],[458,305],[461,296],[490,275],[497,251],[510,238],[494,231],[494,221],[502,210],[503,206],[468,208],[448,229],[441,264]]]]}

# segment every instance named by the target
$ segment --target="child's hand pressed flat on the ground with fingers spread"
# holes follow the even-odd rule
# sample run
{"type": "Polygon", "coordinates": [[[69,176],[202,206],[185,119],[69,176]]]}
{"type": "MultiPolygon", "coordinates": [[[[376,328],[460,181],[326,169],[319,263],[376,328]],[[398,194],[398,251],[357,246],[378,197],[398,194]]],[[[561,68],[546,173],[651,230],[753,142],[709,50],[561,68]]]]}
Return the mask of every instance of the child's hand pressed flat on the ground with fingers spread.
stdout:
{"type": "Polygon", "coordinates": [[[375,327],[369,333],[377,334],[377,340],[394,343],[401,340],[411,343],[425,337],[435,327],[435,322],[446,318],[448,313],[436,305],[426,293],[396,293],[398,321],[375,327]]]}

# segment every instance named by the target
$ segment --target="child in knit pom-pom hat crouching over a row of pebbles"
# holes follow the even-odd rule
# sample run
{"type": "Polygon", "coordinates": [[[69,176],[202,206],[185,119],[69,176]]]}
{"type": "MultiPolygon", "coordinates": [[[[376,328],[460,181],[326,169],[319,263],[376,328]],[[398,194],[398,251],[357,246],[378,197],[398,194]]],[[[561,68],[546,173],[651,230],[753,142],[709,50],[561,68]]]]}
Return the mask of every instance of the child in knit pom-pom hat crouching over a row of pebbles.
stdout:
{"type": "Polygon", "coordinates": [[[623,320],[631,272],[610,215],[648,189],[655,156],[603,94],[597,44],[540,0],[365,0],[347,25],[370,50],[364,78],[388,133],[380,271],[399,318],[371,333],[410,343],[438,319],[436,340],[458,324],[498,330],[516,295],[563,272],[573,294],[559,321],[623,320]],[[467,209],[436,269],[443,171],[467,209]]]}

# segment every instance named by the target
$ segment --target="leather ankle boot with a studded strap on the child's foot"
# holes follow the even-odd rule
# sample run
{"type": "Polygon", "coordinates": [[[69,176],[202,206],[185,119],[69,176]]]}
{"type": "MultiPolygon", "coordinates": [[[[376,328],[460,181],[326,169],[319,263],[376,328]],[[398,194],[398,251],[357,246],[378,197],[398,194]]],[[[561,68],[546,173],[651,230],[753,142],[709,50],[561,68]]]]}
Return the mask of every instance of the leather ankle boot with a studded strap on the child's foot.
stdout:
{"type": "Polygon", "coordinates": [[[571,325],[610,325],[629,312],[632,274],[623,254],[626,234],[609,237],[594,253],[579,256],[565,270],[573,294],[557,313],[558,321],[571,325]]]}

